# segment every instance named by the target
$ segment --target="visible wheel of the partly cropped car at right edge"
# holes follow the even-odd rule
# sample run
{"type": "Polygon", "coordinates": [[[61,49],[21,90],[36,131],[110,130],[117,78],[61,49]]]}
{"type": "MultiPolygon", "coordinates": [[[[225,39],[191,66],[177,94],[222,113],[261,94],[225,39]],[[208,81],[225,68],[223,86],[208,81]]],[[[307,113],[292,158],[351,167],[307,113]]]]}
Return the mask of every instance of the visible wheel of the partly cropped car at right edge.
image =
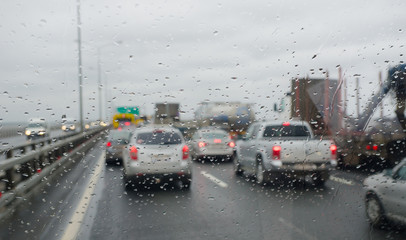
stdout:
{"type": "Polygon", "coordinates": [[[365,211],[369,223],[374,228],[380,228],[385,222],[384,209],[375,194],[368,194],[365,199],[365,211]]]}

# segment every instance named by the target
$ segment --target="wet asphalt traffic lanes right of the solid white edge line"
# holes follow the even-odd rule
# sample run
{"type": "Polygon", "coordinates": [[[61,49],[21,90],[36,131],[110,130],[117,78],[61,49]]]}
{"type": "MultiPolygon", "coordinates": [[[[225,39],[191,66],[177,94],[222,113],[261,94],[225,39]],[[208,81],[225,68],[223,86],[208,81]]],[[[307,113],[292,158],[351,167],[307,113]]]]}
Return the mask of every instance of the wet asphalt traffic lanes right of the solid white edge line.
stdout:
{"type": "Polygon", "coordinates": [[[369,227],[360,182],[339,172],[321,189],[273,188],[236,177],[230,163],[196,163],[190,192],[125,192],[120,167],[108,169],[92,239],[403,239],[369,227]]]}

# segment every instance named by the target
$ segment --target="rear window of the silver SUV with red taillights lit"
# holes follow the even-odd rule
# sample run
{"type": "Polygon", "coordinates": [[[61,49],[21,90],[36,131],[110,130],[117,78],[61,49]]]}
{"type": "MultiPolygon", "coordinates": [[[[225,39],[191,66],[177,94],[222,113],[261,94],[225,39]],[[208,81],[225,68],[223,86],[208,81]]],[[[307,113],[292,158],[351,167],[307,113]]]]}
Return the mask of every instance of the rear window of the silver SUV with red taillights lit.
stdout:
{"type": "Polygon", "coordinates": [[[136,142],[143,145],[171,145],[182,143],[182,137],[174,132],[145,132],[137,135],[136,142]]]}

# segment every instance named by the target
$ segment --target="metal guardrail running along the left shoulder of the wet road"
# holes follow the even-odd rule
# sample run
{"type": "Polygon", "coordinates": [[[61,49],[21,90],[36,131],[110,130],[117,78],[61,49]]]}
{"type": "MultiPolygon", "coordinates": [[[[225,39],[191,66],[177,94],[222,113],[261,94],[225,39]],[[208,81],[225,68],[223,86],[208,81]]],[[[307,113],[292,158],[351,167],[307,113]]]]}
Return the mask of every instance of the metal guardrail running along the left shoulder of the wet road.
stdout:
{"type": "Polygon", "coordinates": [[[6,150],[11,157],[0,161],[0,183],[3,183],[0,186],[0,218],[32,189],[47,183],[52,176],[65,169],[62,166],[73,164],[75,158],[83,157],[107,129],[99,127],[64,136],[58,141],[38,140],[6,150]],[[47,141],[51,141],[49,145],[45,145],[47,141]],[[31,148],[31,151],[28,152],[27,148],[31,148]],[[18,154],[14,155],[16,151],[18,154]]]}

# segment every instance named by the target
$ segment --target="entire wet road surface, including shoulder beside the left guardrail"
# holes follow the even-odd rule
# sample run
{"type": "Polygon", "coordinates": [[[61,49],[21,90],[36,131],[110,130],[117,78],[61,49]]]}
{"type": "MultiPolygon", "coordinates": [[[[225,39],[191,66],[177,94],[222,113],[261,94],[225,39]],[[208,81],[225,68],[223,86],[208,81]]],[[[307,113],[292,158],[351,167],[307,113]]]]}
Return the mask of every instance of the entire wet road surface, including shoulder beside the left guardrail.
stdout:
{"type": "Polygon", "coordinates": [[[72,231],[77,231],[78,239],[405,237],[404,232],[369,227],[363,177],[358,174],[334,172],[325,188],[303,181],[275,188],[235,176],[230,163],[194,163],[190,190],[155,186],[126,191],[121,166],[103,164],[97,170],[102,149],[102,144],[96,146],[76,167],[2,222],[0,239],[61,239],[76,221],[80,227],[72,231]],[[83,197],[85,192],[88,197],[83,197]],[[89,200],[81,203],[83,199],[89,200]],[[75,212],[85,213],[83,219],[75,218],[75,212]]]}

